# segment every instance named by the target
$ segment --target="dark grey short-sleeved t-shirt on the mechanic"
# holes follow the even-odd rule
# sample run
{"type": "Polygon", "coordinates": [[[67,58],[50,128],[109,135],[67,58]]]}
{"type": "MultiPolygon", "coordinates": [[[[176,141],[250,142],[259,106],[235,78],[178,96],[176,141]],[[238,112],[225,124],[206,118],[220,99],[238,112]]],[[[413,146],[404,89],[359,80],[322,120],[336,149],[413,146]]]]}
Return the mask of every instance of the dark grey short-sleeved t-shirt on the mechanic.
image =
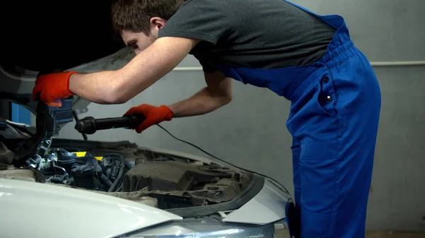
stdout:
{"type": "Polygon", "coordinates": [[[283,0],[187,0],[159,37],[203,40],[190,54],[212,64],[284,68],[320,59],[335,29],[283,0]]]}

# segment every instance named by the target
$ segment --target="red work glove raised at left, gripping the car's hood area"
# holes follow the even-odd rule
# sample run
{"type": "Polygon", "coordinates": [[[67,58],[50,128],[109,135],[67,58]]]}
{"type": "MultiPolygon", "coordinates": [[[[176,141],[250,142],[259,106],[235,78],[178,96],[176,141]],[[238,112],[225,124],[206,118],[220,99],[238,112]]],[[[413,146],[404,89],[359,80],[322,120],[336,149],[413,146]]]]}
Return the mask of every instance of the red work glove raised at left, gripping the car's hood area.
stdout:
{"type": "Polygon", "coordinates": [[[46,105],[62,107],[61,98],[72,96],[69,90],[69,77],[77,71],[64,71],[61,73],[49,73],[38,77],[33,88],[33,101],[42,100],[46,105]]]}

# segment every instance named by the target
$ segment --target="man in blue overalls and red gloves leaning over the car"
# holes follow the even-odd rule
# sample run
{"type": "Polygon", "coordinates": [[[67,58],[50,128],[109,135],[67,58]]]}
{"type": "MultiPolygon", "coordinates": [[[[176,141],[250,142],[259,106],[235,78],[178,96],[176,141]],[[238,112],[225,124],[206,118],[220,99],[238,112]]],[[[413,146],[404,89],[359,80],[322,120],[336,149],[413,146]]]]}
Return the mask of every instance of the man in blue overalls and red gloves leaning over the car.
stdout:
{"type": "Polygon", "coordinates": [[[341,16],[283,0],[118,0],[112,20],[137,56],[117,71],[41,76],[35,100],[127,102],[193,54],[207,86],[174,105],[132,107],[147,117],[136,131],[226,105],[232,80],[269,88],[291,102],[301,237],[364,237],[380,87],[341,16]]]}

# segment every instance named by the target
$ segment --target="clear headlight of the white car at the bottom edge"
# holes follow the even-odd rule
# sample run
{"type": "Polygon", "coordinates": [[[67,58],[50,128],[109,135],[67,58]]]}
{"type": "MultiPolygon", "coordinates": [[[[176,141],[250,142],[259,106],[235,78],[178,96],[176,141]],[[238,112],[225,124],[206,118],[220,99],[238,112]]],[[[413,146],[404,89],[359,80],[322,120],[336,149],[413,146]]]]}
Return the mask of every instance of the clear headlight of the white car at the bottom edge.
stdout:
{"type": "Polygon", "coordinates": [[[184,219],[121,237],[144,238],[273,238],[274,226],[222,223],[214,218],[184,219]]]}

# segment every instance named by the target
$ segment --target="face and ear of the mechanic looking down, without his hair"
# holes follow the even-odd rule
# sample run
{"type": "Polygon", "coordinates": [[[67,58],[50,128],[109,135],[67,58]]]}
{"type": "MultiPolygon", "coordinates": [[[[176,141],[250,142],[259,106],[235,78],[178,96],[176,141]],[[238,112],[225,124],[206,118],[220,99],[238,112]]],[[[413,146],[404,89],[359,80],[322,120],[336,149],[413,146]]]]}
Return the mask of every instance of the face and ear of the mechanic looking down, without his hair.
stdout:
{"type": "Polygon", "coordinates": [[[150,34],[144,32],[132,32],[131,30],[122,30],[121,37],[128,47],[132,47],[135,54],[139,54],[149,47],[158,38],[159,30],[164,27],[166,20],[162,18],[151,18],[150,34]]]}

